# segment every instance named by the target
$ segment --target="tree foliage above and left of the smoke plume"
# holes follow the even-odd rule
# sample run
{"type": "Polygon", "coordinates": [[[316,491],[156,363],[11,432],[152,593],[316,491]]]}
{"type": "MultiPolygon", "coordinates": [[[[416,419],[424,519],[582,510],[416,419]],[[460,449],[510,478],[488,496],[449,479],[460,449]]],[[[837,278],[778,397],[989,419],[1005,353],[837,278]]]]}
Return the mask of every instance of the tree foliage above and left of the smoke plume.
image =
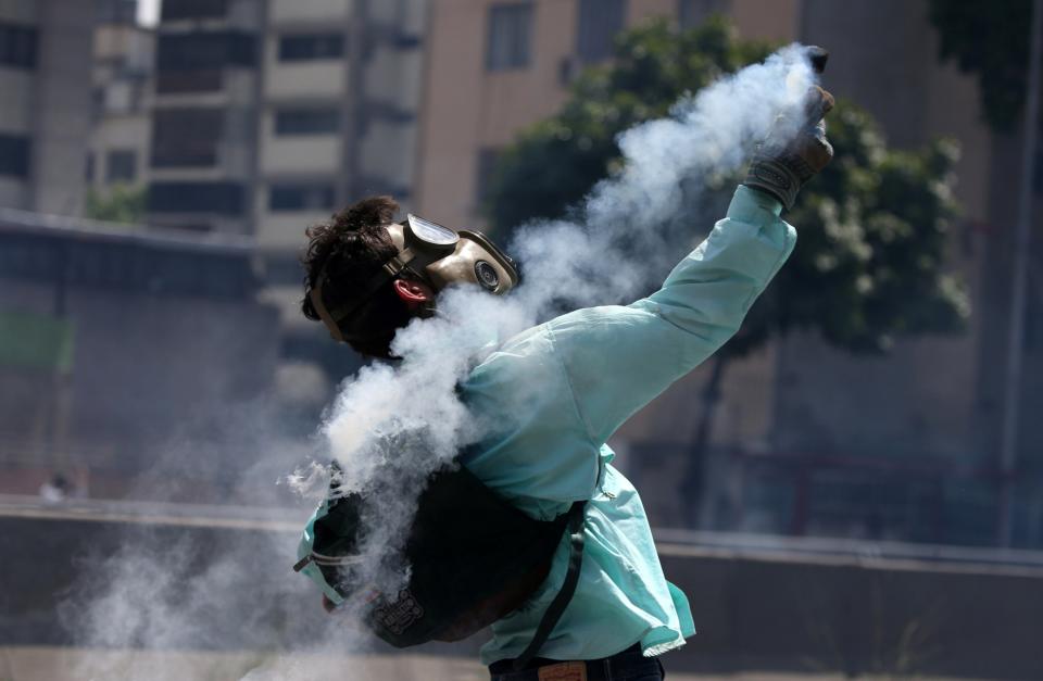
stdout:
{"type": "Polygon", "coordinates": [[[557,217],[619,160],[616,136],[667,115],[687,92],[767,56],[766,42],[737,41],[720,16],[677,33],[653,22],[620,34],[612,67],[585,70],[557,115],[525,131],[505,150],[488,212],[494,225],[557,217]]]}

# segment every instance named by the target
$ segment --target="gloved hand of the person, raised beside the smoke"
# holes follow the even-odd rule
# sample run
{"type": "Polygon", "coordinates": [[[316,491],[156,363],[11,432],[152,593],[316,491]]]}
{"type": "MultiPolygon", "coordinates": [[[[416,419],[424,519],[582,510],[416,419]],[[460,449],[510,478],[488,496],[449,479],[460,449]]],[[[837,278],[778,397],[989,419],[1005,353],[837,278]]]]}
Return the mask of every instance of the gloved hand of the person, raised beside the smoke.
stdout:
{"type": "Polygon", "coordinates": [[[776,123],[767,139],[757,148],[746,179],[746,187],[755,187],[778,199],[790,210],[796,192],[833,157],[833,147],[826,139],[822,117],[833,108],[833,96],[817,85],[807,91],[804,121],[795,137],[786,139],[783,130],[792,127],[776,123]]]}

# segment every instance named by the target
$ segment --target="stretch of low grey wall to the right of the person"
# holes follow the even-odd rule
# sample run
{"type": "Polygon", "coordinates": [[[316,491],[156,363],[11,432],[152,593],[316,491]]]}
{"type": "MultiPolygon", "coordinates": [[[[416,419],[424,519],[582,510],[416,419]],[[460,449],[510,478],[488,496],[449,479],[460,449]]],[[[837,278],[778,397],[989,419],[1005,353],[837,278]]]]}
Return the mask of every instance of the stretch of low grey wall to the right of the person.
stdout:
{"type": "Polygon", "coordinates": [[[678,667],[1043,678],[1039,569],[686,553],[662,555],[700,632],[678,667]]]}

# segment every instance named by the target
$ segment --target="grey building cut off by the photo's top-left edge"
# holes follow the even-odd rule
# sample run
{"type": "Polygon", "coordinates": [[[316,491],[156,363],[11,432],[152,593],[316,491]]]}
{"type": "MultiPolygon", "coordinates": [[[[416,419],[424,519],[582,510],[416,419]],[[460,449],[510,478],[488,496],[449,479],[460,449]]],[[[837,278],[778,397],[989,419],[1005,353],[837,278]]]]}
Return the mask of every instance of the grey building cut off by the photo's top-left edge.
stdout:
{"type": "Polygon", "coordinates": [[[92,2],[0,2],[0,206],[83,205],[93,18],[92,2]]]}

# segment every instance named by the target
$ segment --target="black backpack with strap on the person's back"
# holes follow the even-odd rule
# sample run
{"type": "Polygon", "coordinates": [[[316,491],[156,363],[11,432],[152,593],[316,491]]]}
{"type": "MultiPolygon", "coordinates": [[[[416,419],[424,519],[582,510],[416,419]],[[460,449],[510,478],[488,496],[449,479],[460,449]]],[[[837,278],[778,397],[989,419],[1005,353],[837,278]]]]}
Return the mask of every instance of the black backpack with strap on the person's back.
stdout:
{"type": "MultiPolygon", "coordinates": [[[[536,520],[501,499],[458,457],[453,464],[430,476],[417,501],[404,547],[411,566],[405,588],[392,596],[376,594],[364,623],[395,647],[467,638],[529,598],[546,579],[567,531],[566,578],[533,640],[515,660],[520,668],[539,652],[576,590],[587,502],[575,502],[553,520],[536,520]]],[[[335,483],[330,491],[325,515],[321,507],[312,524],[311,550],[293,569],[313,564],[326,584],[343,596],[363,588],[352,581],[345,564],[357,554],[360,519],[372,500],[360,493],[336,496],[335,483]]]]}

